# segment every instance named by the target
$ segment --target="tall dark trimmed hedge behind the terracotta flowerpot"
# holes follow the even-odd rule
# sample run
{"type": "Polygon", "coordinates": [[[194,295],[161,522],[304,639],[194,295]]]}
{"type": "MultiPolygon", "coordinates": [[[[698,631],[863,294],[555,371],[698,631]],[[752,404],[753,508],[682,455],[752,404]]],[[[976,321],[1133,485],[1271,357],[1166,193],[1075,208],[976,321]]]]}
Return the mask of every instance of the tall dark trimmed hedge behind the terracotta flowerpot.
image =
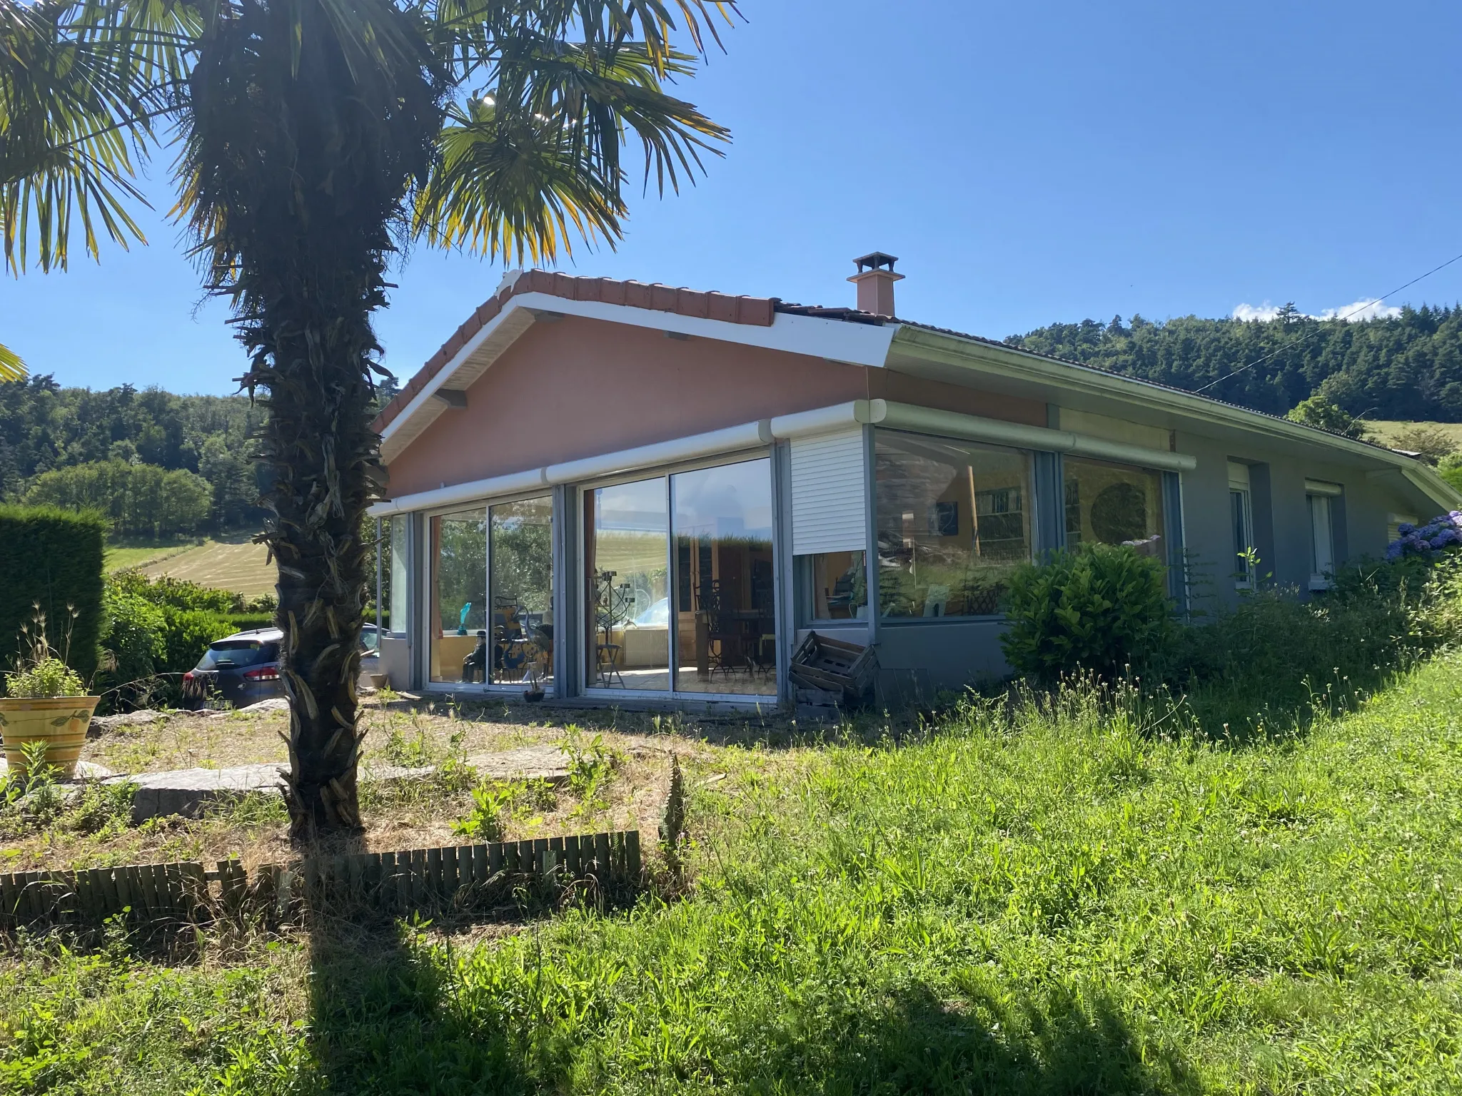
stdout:
{"type": "Polygon", "coordinates": [[[20,628],[39,605],[51,646],[67,655],[82,678],[92,677],[101,640],[105,548],[107,520],[101,514],[0,506],[0,666],[15,663],[20,628]]]}

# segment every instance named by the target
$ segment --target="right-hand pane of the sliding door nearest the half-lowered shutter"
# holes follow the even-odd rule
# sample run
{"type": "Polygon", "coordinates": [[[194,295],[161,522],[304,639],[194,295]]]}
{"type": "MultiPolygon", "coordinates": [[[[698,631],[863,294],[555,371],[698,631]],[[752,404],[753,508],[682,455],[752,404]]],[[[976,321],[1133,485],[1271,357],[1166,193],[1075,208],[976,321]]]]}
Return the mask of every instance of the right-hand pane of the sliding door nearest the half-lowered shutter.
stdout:
{"type": "Polygon", "coordinates": [[[772,463],[671,476],[675,688],[776,693],[772,463]]]}

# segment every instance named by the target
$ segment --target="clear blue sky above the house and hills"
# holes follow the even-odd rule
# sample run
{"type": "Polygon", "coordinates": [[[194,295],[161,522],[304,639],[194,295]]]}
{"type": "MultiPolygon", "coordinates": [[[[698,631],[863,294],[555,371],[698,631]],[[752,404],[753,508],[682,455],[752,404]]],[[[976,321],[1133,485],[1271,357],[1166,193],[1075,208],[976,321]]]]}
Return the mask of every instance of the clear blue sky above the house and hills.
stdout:
{"type": "MultiPolygon", "coordinates": [[[[743,0],[681,92],[734,143],[561,267],[851,304],[901,257],[902,316],[1003,338],[1056,320],[1323,314],[1462,251],[1462,7],[1442,3],[743,0]]],[[[165,162],[154,167],[161,210],[165,162]]],[[[637,187],[636,187],[637,193],[637,187]]],[[[0,282],[0,336],[63,384],[227,393],[243,371],[177,229],[0,282]]],[[[420,248],[380,317],[409,376],[501,263],[420,248]]],[[[1399,301],[1462,300],[1462,263],[1399,301]]]]}

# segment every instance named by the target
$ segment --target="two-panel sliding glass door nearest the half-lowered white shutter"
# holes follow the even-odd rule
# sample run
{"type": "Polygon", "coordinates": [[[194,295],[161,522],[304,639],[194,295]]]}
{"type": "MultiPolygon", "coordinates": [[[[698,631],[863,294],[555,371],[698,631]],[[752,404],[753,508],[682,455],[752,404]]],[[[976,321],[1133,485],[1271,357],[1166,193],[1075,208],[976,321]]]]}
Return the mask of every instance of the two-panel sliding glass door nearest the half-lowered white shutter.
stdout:
{"type": "Polygon", "coordinates": [[[583,492],[585,684],[775,696],[770,460],[583,492]]]}

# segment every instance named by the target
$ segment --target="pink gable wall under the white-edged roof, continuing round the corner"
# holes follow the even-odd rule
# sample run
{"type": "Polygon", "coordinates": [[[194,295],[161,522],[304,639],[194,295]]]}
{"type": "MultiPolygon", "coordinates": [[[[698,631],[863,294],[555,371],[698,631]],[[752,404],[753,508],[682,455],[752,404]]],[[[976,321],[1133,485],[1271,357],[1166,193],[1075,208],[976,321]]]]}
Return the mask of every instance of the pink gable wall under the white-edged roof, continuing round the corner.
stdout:
{"type": "Polygon", "coordinates": [[[1042,403],[883,374],[602,320],[539,321],[466,390],[465,409],[443,411],[390,462],[390,494],[870,396],[1045,424],[1042,403]],[[879,390],[870,392],[870,378],[879,390]]]}

